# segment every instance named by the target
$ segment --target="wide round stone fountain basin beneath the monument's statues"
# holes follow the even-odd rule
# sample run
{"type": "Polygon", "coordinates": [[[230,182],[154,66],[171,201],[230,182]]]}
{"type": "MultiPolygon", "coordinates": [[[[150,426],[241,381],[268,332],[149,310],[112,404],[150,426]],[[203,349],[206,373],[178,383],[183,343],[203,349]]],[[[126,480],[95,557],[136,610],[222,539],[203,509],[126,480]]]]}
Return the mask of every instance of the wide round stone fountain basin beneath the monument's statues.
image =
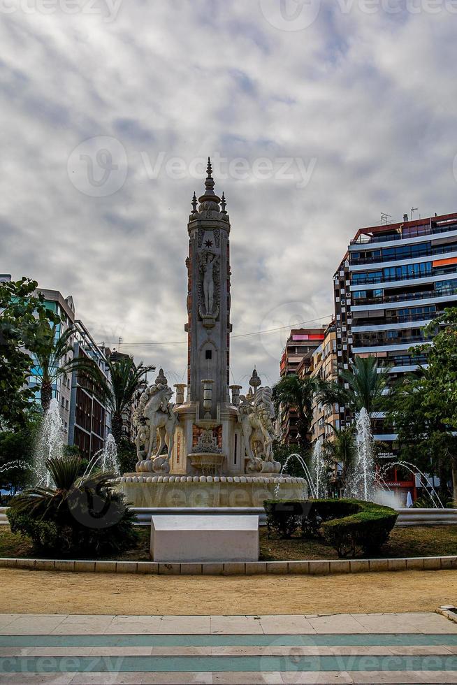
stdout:
{"type": "Polygon", "coordinates": [[[263,507],[263,500],[306,499],[304,478],[125,474],[117,479],[131,507],[263,507]]]}

